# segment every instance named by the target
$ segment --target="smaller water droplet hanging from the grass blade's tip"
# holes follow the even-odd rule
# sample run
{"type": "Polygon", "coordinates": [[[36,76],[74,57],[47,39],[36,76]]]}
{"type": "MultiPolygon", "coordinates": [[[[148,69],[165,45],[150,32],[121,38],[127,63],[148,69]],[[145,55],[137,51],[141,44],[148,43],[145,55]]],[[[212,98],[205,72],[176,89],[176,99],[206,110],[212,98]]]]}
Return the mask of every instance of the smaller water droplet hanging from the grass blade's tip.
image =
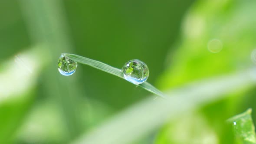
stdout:
{"type": "Polygon", "coordinates": [[[65,76],[72,75],[73,73],[75,73],[76,68],[77,62],[67,58],[64,55],[61,55],[59,57],[58,70],[60,74],[65,76]]]}

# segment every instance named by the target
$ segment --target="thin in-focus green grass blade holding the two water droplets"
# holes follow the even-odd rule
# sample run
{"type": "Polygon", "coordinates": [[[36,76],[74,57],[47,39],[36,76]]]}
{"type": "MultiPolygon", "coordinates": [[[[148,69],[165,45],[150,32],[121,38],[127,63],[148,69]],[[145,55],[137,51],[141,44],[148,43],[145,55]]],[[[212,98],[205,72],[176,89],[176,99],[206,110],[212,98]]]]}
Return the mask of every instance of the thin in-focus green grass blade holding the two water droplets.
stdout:
{"type": "MultiPolygon", "coordinates": [[[[96,69],[102,70],[102,71],[107,72],[109,74],[118,76],[119,78],[125,79],[124,74],[121,72],[121,69],[114,68],[114,67],[112,67],[110,65],[107,65],[103,62],[99,62],[97,60],[89,59],[89,58],[74,55],[74,54],[65,53],[63,55],[68,57],[69,59],[72,59],[75,62],[79,62],[79,63],[85,64],[85,65],[92,66],[96,69]]],[[[139,84],[138,86],[144,88],[148,92],[159,95],[162,98],[167,98],[161,91],[159,91],[157,88],[155,88],[153,85],[151,85],[148,82],[144,82],[142,84],[139,84]]]]}

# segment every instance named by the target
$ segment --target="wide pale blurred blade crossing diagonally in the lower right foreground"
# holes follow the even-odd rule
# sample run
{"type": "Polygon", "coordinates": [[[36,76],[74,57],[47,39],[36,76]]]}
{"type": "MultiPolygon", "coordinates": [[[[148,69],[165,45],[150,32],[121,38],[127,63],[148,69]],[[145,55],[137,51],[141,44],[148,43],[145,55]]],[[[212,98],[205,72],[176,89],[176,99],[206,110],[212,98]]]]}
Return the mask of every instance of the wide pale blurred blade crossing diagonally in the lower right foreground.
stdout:
{"type": "Polygon", "coordinates": [[[252,75],[254,72],[255,69],[251,69],[193,83],[172,90],[168,93],[171,97],[167,99],[148,98],[105,121],[74,143],[130,144],[184,111],[200,108],[230,96],[224,95],[226,93],[255,85],[256,79],[252,75]]]}

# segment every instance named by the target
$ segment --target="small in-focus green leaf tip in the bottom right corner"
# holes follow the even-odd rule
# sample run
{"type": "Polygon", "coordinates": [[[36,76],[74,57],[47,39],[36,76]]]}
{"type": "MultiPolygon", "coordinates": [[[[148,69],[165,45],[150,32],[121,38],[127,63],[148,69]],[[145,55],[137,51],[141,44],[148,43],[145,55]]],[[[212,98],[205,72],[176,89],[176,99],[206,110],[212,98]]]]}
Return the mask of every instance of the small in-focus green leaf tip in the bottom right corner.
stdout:
{"type": "Polygon", "coordinates": [[[234,133],[243,144],[256,144],[255,127],[252,119],[252,109],[236,115],[227,121],[232,124],[234,133]]]}

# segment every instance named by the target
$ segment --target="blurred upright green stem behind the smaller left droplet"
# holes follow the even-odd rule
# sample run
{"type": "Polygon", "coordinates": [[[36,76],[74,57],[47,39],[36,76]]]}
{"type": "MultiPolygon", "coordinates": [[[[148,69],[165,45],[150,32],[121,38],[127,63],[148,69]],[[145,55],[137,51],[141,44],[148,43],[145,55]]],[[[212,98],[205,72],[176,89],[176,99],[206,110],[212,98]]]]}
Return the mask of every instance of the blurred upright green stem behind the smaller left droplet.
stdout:
{"type": "MultiPolygon", "coordinates": [[[[77,137],[82,127],[77,111],[77,101],[82,96],[77,77],[64,77],[56,70],[57,58],[61,52],[72,52],[72,44],[66,29],[66,19],[62,0],[20,0],[21,10],[30,32],[31,43],[44,43],[49,51],[50,64],[42,76],[44,97],[53,98],[62,110],[65,121],[67,141],[77,137]],[[79,85],[79,86],[78,86],[79,85]]],[[[82,86],[81,86],[82,87],[82,86]]]]}

